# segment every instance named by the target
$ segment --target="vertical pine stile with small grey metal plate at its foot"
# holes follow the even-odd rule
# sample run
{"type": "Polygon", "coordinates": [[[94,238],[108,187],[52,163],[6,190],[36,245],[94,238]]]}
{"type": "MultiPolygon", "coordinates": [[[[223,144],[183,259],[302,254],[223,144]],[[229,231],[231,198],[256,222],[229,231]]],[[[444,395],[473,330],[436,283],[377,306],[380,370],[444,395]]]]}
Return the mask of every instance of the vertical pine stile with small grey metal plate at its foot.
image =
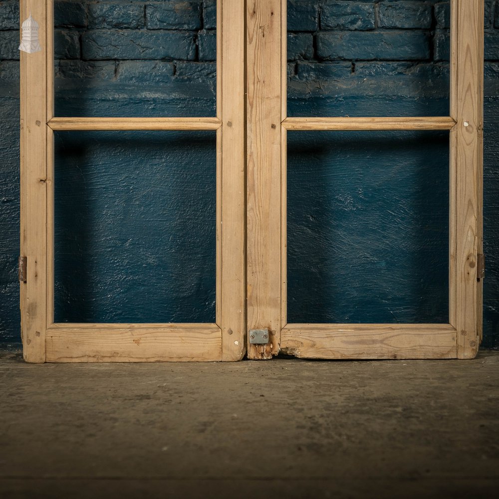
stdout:
{"type": "Polygon", "coordinates": [[[268,329],[265,347],[248,344],[250,359],[279,351],[281,244],[281,0],[247,2],[248,329],[268,329]]]}

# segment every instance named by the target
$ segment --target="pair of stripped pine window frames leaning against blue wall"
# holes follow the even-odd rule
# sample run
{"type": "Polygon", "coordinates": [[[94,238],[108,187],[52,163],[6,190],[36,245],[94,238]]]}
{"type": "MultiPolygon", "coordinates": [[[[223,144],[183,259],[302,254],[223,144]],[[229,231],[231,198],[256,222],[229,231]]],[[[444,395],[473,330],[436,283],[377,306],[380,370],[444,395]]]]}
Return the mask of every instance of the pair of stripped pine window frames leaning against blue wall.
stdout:
{"type": "Polygon", "coordinates": [[[20,61],[26,361],[231,361],[246,347],[250,359],[271,358],[280,348],[307,358],[476,356],[482,335],[484,0],[451,1],[451,117],[287,118],[286,5],[248,0],[245,12],[245,2],[218,0],[216,118],[54,118],[53,0],[21,0],[20,20],[32,13],[42,45],[41,52],[21,52],[20,61]],[[217,324],[52,323],[53,130],[217,131],[217,324]],[[283,327],[287,130],[451,131],[450,324],[283,327]],[[247,327],[268,328],[270,343],[247,345],[247,327]]]}

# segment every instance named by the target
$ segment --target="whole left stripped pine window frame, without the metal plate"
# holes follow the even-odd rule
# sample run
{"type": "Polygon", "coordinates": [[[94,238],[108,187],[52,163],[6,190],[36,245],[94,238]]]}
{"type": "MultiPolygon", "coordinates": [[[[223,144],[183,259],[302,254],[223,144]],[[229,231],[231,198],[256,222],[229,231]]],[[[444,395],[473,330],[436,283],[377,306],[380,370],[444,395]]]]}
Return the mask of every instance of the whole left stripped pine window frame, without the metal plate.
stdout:
{"type": "MultiPolygon", "coordinates": [[[[224,360],[240,359],[245,352],[246,332],[244,307],[246,293],[244,280],[244,7],[234,2],[219,0],[220,12],[223,11],[222,4],[232,3],[225,10],[227,14],[225,25],[236,31],[239,29],[240,33],[237,46],[230,41],[222,41],[226,45],[222,51],[225,50],[227,54],[227,63],[224,65],[219,62],[219,74],[226,74],[226,83],[225,85],[222,83],[221,77],[217,84],[217,98],[219,102],[222,102],[220,93],[225,86],[227,111],[224,113],[221,105],[220,116],[231,118],[227,119],[228,131],[224,137],[222,121],[219,118],[54,118],[53,0],[47,0],[46,3],[46,10],[42,9],[43,11],[36,10],[32,5],[25,7],[25,10],[31,9],[33,16],[40,23],[40,40],[44,47],[44,51],[38,53],[38,58],[43,54],[43,59],[26,60],[24,58],[22,73],[24,86],[21,84],[24,105],[21,109],[21,116],[24,123],[30,124],[30,127],[21,126],[23,139],[21,146],[21,188],[23,189],[21,248],[26,249],[28,259],[27,284],[21,283],[21,306],[23,310],[26,310],[22,318],[25,329],[26,360],[32,362],[222,360],[222,330],[217,324],[52,323],[53,130],[217,130],[217,226],[221,229],[225,222],[226,227],[225,234],[219,230],[217,238],[220,239],[217,242],[217,319],[227,325],[228,337],[236,332],[232,338],[232,346],[227,349],[224,360]],[[238,61],[239,68],[236,67],[238,61]],[[241,75],[239,88],[231,83],[233,71],[239,71],[238,74],[241,75]],[[46,76],[44,80],[46,86],[39,85],[40,74],[46,76]],[[40,119],[35,120],[39,117],[40,119]],[[32,123],[43,133],[34,134],[32,123]],[[27,136],[25,130],[27,130],[27,136]],[[35,157],[42,161],[34,161],[35,157]],[[238,183],[239,190],[234,191],[234,186],[238,183]],[[226,243],[228,247],[224,259],[222,249],[226,243]],[[224,277],[221,271],[223,260],[227,267],[224,277]],[[239,287],[234,284],[235,280],[239,282],[239,287]],[[34,341],[31,339],[31,331],[34,331],[34,341]],[[47,337],[46,331],[49,332],[47,337]],[[239,346],[235,346],[234,340],[238,337],[240,338],[239,346]],[[45,348],[47,348],[48,355],[46,355],[45,348]]],[[[219,40],[221,37],[222,29],[219,30],[219,40]]],[[[33,55],[36,56],[36,54],[29,54],[29,57],[33,55]]],[[[35,131],[37,132],[36,129],[35,131]]]]}

